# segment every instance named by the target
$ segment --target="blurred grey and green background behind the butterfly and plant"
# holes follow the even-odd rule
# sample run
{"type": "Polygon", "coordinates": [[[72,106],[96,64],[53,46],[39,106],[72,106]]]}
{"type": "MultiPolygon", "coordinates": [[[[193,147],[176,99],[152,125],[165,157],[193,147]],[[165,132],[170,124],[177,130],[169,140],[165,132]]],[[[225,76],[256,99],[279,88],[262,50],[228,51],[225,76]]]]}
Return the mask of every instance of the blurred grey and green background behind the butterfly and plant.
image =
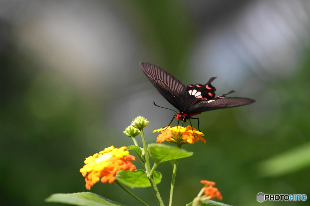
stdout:
{"type": "MultiPolygon", "coordinates": [[[[174,112],[153,101],[174,108],[140,61],[184,84],[217,76],[218,95],[236,89],[231,96],[257,100],[197,116],[207,144],[184,146],[194,155],[179,161],[174,205],[192,201],[202,179],[215,181],[231,205],[260,205],[259,192],[309,198],[309,15],[308,0],[2,0],[0,204],[60,205],[44,199],[86,191],[84,159],[131,145],[123,130],[138,115],[155,141],[151,131],[174,112]]],[[[172,167],[157,171],[167,204],[172,167]]],[[[115,184],[91,191],[137,205],[115,184]]],[[[149,188],[133,192],[156,205],[149,188]]]]}

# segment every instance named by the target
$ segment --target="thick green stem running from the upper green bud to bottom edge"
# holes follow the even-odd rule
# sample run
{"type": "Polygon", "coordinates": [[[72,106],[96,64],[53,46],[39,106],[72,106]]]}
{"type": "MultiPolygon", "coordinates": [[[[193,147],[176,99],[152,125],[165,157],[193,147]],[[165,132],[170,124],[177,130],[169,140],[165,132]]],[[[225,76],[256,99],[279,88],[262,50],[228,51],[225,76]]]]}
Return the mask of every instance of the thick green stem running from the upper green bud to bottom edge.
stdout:
{"type": "Polygon", "coordinates": [[[145,164],[144,164],[145,166],[144,167],[145,167],[146,176],[148,177],[148,180],[151,183],[151,186],[152,186],[153,192],[155,194],[157,203],[160,206],[164,206],[164,203],[162,201],[162,197],[160,196],[158,188],[157,188],[157,185],[156,185],[156,183],[155,183],[155,181],[153,179],[153,174],[150,175],[150,173],[151,173],[151,166],[150,166],[150,161],[148,159],[148,148],[146,146],[146,141],[145,141],[145,136],[144,136],[143,128],[140,129],[140,134],[141,134],[141,137],[142,137],[142,143],[143,143],[143,149],[144,149],[144,156],[145,156],[145,164]]]}

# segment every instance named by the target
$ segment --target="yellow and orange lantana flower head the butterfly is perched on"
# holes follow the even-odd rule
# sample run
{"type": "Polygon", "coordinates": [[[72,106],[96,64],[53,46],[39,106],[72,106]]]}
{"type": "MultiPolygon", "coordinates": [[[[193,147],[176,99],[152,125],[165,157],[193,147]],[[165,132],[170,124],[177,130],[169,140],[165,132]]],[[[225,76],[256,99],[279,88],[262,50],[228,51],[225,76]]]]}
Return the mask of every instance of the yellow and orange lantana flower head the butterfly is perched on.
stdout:
{"type": "Polygon", "coordinates": [[[164,127],[158,130],[154,130],[153,133],[161,131],[162,134],[157,136],[157,143],[162,143],[163,141],[173,142],[175,144],[179,143],[189,143],[194,144],[201,140],[202,142],[206,143],[206,140],[203,139],[202,136],[204,134],[201,131],[197,131],[195,128],[188,125],[187,127],[164,127]]]}

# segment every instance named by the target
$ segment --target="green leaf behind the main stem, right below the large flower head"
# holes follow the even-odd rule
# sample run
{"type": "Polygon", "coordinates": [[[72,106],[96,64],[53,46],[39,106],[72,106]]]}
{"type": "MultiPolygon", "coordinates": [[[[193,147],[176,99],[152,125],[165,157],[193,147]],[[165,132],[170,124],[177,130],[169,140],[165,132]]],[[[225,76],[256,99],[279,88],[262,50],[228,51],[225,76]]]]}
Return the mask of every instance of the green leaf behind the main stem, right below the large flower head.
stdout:
{"type": "MultiPolygon", "coordinates": [[[[133,172],[121,170],[117,172],[116,178],[119,182],[131,188],[151,187],[151,183],[146,177],[144,170],[135,170],[133,172]]],[[[162,181],[162,174],[160,172],[154,172],[153,178],[155,183],[159,184],[162,181]]]]}

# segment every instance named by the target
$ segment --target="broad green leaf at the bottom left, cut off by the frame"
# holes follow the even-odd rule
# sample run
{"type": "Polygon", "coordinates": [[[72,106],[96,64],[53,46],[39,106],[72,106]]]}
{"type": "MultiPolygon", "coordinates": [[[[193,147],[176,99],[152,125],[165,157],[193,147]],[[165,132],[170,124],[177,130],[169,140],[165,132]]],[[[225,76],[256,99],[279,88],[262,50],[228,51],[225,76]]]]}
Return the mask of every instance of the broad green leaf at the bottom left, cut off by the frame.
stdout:
{"type": "Polygon", "coordinates": [[[45,202],[56,202],[78,206],[125,206],[124,204],[117,203],[91,192],[52,194],[45,199],[45,202]]]}

